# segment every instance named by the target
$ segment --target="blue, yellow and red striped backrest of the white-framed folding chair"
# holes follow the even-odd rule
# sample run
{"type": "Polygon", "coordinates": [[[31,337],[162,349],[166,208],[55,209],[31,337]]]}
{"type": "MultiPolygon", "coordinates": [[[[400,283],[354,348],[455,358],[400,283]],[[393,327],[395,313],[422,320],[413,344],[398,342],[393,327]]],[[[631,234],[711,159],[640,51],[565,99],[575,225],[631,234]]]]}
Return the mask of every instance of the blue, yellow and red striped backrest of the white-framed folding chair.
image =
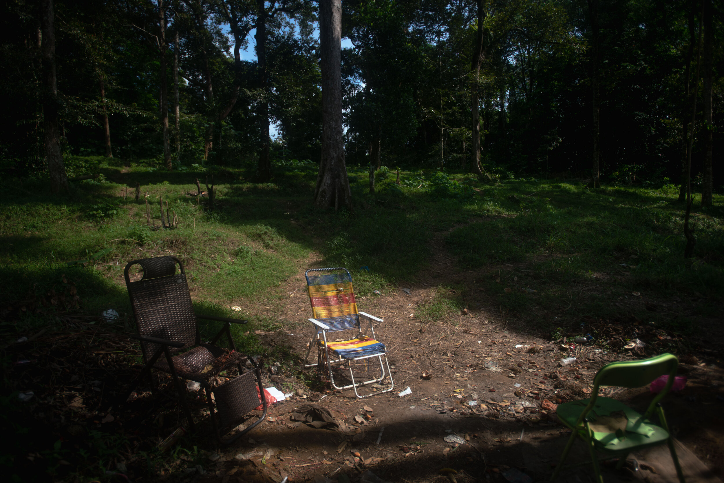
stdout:
{"type": "Polygon", "coordinates": [[[352,275],[348,269],[310,269],[304,273],[304,277],[307,279],[314,319],[328,325],[328,332],[360,329],[352,275]]]}

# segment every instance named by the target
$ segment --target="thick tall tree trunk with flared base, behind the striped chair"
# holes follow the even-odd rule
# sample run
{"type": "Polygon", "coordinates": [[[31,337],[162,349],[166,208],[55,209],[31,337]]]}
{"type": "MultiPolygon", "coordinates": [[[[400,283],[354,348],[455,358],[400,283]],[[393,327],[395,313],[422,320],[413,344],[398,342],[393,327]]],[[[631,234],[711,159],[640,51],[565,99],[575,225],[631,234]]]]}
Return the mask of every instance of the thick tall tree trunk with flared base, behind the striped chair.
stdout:
{"type": "Polygon", "coordinates": [[[319,0],[321,159],[314,190],[320,207],[352,209],[342,132],[342,3],[319,0]]]}

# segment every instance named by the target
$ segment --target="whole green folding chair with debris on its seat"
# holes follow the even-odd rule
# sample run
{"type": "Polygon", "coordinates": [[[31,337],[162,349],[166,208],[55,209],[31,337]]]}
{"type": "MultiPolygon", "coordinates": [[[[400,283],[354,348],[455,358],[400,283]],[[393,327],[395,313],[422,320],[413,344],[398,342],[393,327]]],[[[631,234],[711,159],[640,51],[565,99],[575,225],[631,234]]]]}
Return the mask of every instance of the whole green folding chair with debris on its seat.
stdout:
{"type": "Polygon", "coordinates": [[[599,469],[596,451],[608,453],[608,458],[611,455],[618,455],[620,459],[616,468],[620,469],[626,462],[629,453],[664,443],[669,446],[679,482],[685,483],[681,465],[674,450],[673,438],[659,402],[673,385],[677,368],[678,359],[673,354],[662,354],[644,361],[613,362],[603,366],[594,379],[591,398],[571,401],[558,406],[556,411],[558,419],[571,428],[573,434],[568,439],[560,463],[556,466],[550,480],[555,481],[563,469],[563,461],[565,461],[568,451],[571,450],[573,442],[576,437],[581,437],[591,453],[597,483],[603,483],[603,476],[599,469]],[[669,380],[643,415],[618,400],[598,397],[599,386],[641,387],[662,374],[668,374],[669,380]],[[649,416],[654,411],[659,416],[659,425],[649,421],[649,416]]]}

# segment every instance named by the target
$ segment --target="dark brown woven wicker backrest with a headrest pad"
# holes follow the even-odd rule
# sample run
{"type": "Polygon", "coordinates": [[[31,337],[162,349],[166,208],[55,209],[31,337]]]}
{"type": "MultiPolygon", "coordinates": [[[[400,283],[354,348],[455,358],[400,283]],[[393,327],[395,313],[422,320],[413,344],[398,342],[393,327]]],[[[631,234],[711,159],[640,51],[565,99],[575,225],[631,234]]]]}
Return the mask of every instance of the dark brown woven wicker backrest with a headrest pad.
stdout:
{"type": "MultiPolygon", "coordinates": [[[[192,347],[198,343],[196,316],[191,305],[186,274],[175,256],[134,260],[126,265],[126,287],[131,299],[138,334],[173,340],[192,347]],[[180,273],[176,274],[176,264],[180,273]],[[128,269],[134,264],[143,267],[143,278],[131,282],[128,269]]],[[[141,342],[143,359],[148,361],[158,344],[141,342]]]]}

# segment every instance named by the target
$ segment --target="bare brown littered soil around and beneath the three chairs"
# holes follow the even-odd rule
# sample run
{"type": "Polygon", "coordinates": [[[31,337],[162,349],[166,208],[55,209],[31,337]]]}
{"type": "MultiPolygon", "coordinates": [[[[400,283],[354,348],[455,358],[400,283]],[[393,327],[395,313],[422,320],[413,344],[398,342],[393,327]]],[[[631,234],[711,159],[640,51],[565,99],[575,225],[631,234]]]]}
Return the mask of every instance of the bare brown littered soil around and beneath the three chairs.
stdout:
{"type": "MultiPolygon", "coordinates": [[[[382,481],[442,483],[448,481],[441,474],[442,469],[457,471],[458,482],[549,479],[570,436],[568,429],[557,421],[552,405],[585,398],[601,366],[651,356],[657,353],[656,349],[649,345],[633,352],[620,350],[623,343],[617,341],[625,333],[639,333],[635,317],[617,322],[618,325],[593,319],[584,321],[610,335],[608,345],[603,347],[579,344],[571,350],[561,346],[567,341],[542,337],[539,320],[552,314],[521,316],[501,311],[494,298],[477,290],[476,281],[497,277],[510,266],[487,266],[476,271],[458,269],[445,251],[443,236],[441,233],[433,240],[435,255],[414,282],[400,282],[386,295],[358,298],[361,311],[384,319],[375,325],[375,332],[389,350],[395,381],[393,392],[371,395],[383,387],[367,387],[362,392],[371,397],[358,400],[351,390],[332,391],[317,382],[316,369],[297,365],[294,371],[274,376],[274,381],[271,374],[265,373],[265,387],[274,385],[294,393],[270,408],[268,421],[230,448],[219,448],[212,437],[198,440],[203,460],[200,466],[192,465],[193,458],[181,453],[172,466],[156,469],[158,476],[137,476],[135,481],[280,482],[288,477],[291,482],[326,482],[324,478],[343,482],[345,476],[362,481],[361,476],[371,471],[382,481]],[[466,287],[462,305],[467,313],[448,313],[437,322],[418,316],[424,313],[426,304],[439,298],[438,287],[443,282],[466,287]],[[403,288],[410,289],[409,293],[403,288]],[[560,359],[568,356],[575,356],[576,363],[560,366],[560,359]],[[423,379],[423,373],[432,377],[423,379]],[[398,393],[406,387],[410,387],[411,394],[400,397],[398,393]],[[476,404],[471,406],[473,401],[476,404]],[[342,423],[340,428],[314,429],[292,421],[293,410],[308,402],[332,411],[342,423]],[[466,443],[446,441],[445,437],[450,439],[451,435],[466,443]],[[203,474],[197,468],[203,469],[203,474]]],[[[310,267],[319,263],[316,256],[308,260],[310,267]]],[[[515,269],[524,271],[525,266],[515,269]]],[[[518,285],[522,284],[523,280],[518,285]]],[[[670,302],[670,306],[675,303],[670,302]]],[[[245,309],[288,324],[276,332],[258,333],[262,345],[282,348],[297,360],[304,356],[312,330],[311,324],[303,322],[311,316],[303,270],[290,276],[277,293],[272,291],[267,298],[245,301],[245,309]]],[[[145,474],[147,469],[140,468],[143,461],[135,455],[155,447],[159,436],[169,434],[183,422],[173,398],[164,396],[173,395],[169,379],[159,376],[161,388],[165,388],[160,395],[142,393],[127,411],[106,408],[103,403],[108,394],[120,394],[140,366],[133,369],[128,365],[127,354],[132,349],[122,335],[78,317],[70,317],[66,322],[67,331],[40,334],[34,341],[28,341],[42,348],[18,349],[25,350],[22,357],[31,362],[43,361],[38,367],[50,368],[28,369],[19,378],[18,374],[13,376],[13,384],[18,388],[31,381],[42,381],[49,388],[35,395],[34,401],[39,402],[33,404],[41,425],[35,430],[43,431],[43,424],[60,425],[59,434],[70,442],[96,428],[103,427],[106,432],[109,427],[119,432],[125,430],[127,437],[135,435],[136,443],[133,448],[119,448],[120,456],[115,463],[127,463],[130,476],[134,469],[138,470],[136,475],[145,474]],[[62,413],[67,416],[57,416],[62,413]]],[[[689,382],[681,392],[668,395],[663,404],[669,424],[682,443],[679,453],[688,472],[687,481],[717,482],[717,476],[724,471],[724,371],[712,362],[721,351],[724,332],[720,319],[701,320],[699,325],[701,350],[680,355],[680,373],[686,374],[689,382]]],[[[17,361],[21,361],[21,352],[17,353],[17,361]]],[[[19,371],[18,368],[14,370],[19,371]]],[[[223,382],[223,378],[217,381],[223,382]]],[[[609,387],[602,395],[622,400],[641,412],[652,399],[648,387],[609,387]]],[[[203,408],[196,408],[195,412],[203,420],[203,408]]],[[[668,452],[665,448],[664,453],[657,451],[635,455],[639,471],[605,467],[606,481],[675,481],[668,452]]],[[[18,464],[32,466],[33,458],[36,456],[29,455],[18,464]]],[[[588,458],[578,442],[568,463],[588,458]]],[[[592,471],[584,466],[564,472],[560,481],[592,481],[592,471]]]]}

